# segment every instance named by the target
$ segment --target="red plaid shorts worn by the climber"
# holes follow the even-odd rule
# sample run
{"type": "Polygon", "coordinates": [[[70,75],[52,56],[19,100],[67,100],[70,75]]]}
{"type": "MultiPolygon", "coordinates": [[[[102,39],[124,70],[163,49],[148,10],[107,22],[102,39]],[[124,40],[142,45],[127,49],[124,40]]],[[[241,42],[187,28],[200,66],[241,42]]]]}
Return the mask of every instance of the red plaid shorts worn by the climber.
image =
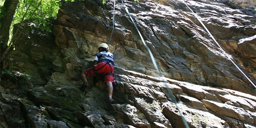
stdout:
{"type": "Polygon", "coordinates": [[[97,74],[104,76],[104,83],[114,82],[114,66],[109,63],[100,62],[84,71],[86,76],[95,76],[97,74]],[[112,75],[113,74],[113,75],[112,75]]]}

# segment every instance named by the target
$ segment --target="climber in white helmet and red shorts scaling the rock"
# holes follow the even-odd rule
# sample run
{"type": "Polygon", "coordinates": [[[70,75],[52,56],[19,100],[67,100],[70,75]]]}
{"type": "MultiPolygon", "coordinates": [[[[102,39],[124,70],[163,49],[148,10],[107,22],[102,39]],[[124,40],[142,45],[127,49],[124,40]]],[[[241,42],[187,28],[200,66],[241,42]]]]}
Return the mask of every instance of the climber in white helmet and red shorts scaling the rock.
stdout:
{"type": "Polygon", "coordinates": [[[81,79],[83,80],[83,85],[80,90],[84,91],[89,84],[86,77],[102,75],[104,76],[104,83],[107,85],[108,89],[108,102],[111,104],[116,104],[117,102],[112,99],[113,95],[113,82],[114,82],[114,55],[108,52],[108,45],[102,43],[98,46],[98,53],[94,56],[93,66],[86,69],[81,73],[81,79]]]}

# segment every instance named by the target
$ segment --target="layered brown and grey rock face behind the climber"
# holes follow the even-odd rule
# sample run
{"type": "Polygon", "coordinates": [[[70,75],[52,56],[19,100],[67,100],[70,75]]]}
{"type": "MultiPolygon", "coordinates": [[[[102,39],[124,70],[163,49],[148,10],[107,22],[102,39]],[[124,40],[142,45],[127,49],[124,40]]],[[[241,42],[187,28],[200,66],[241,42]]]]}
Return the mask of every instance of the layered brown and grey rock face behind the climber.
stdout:
{"type": "Polygon", "coordinates": [[[227,59],[256,83],[255,3],[233,3],[125,1],[159,74],[122,1],[114,17],[114,1],[61,1],[53,33],[30,24],[17,44],[13,70],[30,82],[2,78],[1,127],[256,127],[255,87],[227,59]],[[80,73],[110,37],[118,104],[107,103],[99,76],[79,90],[80,73]]]}

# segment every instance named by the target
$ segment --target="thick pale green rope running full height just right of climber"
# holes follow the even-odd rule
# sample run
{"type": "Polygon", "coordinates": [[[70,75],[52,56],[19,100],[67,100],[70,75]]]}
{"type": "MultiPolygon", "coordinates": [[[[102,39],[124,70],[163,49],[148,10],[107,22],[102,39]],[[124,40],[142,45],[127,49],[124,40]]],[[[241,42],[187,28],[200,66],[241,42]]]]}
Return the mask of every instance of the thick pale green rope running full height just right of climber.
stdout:
{"type": "MultiPolygon", "coordinates": [[[[122,3],[123,3],[123,0],[122,0],[122,3]]],[[[155,68],[156,68],[156,70],[157,70],[159,76],[164,77],[164,75],[161,73],[161,70],[159,70],[159,68],[158,68],[158,66],[157,66],[157,64],[156,64],[155,58],[154,58],[154,56],[152,55],[150,49],[148,48],[148,45],[145,43],[145,41],[144,41],[144,39],[143,39],[141,33],[139,32],[139,29],[137,28],[136,24],[134,23],[133,18],[131,17],[131,15],[130,15],[130,13],[129,13],[129,11],[128,11],[128,8],[126,7],[126,5],[125,5],[124,3],[123,3],[123,6],[125,7],[126,13],[129,15],[130,19],[132,20],[134,27],[136,28],[137,32],[139,33],[139,36],[140,36],[140,38],[141,38],[141,40],[142,40],[144,46],[147,48],[148,53],[149,53],[149,55],[150,55],[150,58],[151,58],[151,60],[152,60],[152,62],[153,62],[153,64],[154,64],[154,66],[155,66],[155,68]]],[[[184,125],[186,126],[186,128],[189,128],[189,125],[188,125],[187,121],[186,121],[185,118],[183,117],[183,114],[181,113],[180,108],[179,108],[178,105],[177,105],[177,101],[176,101],[176,99],[175,99],[173,93],[171,92],[170,88],[167,87],[167,82],[164,81],[164,83],[165,83],[165,86],[166,86],[166,88],[167,88],[167,91],[168,91],[169,94],[170,94],[170,98],[171,98],[172,101],[175,103],[176,108],[178,109],[178,111],[179,111],[179,113],[180,113],[181,120],[183,121],[183,123],[184,123],[184,125]]]]}

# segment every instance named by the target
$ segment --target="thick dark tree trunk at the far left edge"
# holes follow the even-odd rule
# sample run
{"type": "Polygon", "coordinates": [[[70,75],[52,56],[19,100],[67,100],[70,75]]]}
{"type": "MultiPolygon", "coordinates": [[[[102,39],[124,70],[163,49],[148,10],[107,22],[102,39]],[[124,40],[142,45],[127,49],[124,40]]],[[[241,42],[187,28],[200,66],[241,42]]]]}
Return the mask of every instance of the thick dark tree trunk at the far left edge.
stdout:
{"type": "MultiPolygon", "coordinates": [[[[4,3],[4,10],[2,11],[2,14],[4,16],[1,18],[1,26],[0,26],[0,54],[1,56],[4,55],[3,53],[8,48],[8,40],[9,40],[9,33],[10,33],[10,26],[11,22],[13,20],[13,16],[15,13],[15,10],[17,8],[17,5],[19,3],[19,0],[6,0],[4,3]]],[[[0,61],[0,69],[3,70],[3,60],[1,57],[0,61]]]]}

